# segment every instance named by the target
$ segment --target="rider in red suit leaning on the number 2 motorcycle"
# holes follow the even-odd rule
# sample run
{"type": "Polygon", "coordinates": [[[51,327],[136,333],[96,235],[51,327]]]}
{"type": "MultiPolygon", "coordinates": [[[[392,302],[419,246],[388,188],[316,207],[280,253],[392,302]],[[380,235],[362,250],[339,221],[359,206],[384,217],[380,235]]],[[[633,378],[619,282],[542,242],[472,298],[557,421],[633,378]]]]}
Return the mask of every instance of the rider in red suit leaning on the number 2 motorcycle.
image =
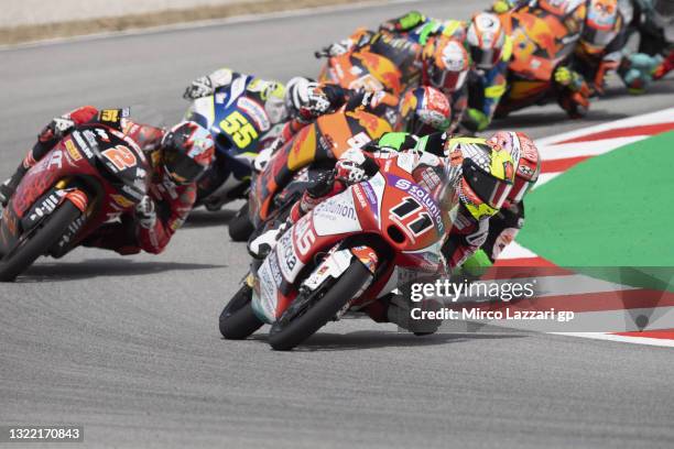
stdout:
{"type": "Polygon", "coordinates": [[[106,223],[83,245],[122,255],[141,250],[161,253],[185,222],[196,200],[195,182],[214,157],[210,133],[194,122],[182,122],[166,131],[134,122],[128,108],[98,110],[93,106],[54,118],[41,131],[17,172],[0,186],[2,205],[7,205],[26,172],[80,124],[100,124],[123,132],[138,143],[153,167],[149,194],[137,205],[134,213],[106,223]]]}

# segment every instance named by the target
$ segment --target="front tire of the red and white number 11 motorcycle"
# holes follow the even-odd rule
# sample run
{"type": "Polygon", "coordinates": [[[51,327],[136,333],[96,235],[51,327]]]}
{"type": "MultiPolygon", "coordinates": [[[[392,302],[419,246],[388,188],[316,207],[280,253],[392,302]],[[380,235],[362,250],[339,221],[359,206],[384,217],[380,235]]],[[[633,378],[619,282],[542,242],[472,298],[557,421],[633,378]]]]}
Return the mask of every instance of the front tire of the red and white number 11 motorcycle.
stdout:
{"type": "MultiPolygon", "coordinates": [[[[295,348],[331,320],[370,281],[371,276],[372,274],[360,261],[351,261],[347,271],[328,289],[325,296],[311,305],[304,315],[291,318],[287,322],[283,321],[282,315],[272,325],[269,332],[269,344],[276,351],[290,351],[295,348]]],[[[289,307],[284,314],[290,310],[289,307]]]]}

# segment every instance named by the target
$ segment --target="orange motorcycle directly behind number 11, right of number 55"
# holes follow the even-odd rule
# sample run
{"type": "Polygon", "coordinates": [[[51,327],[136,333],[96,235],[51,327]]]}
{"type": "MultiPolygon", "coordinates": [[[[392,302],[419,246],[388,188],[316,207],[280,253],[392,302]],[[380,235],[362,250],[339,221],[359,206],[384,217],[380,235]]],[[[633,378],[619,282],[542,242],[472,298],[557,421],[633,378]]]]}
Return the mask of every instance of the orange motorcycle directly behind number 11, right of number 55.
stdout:
{"type": "Polygon", "coordinates": [[[262,223],[287,210],[318,173],[334,168],[344,152],[362,149],[390,131],[387,120],[363,110],[319,117],[274,153],[260,173],[253,173],[249,200],[240,215],[248,212],[252,228],[263,230],[262,223]]]}

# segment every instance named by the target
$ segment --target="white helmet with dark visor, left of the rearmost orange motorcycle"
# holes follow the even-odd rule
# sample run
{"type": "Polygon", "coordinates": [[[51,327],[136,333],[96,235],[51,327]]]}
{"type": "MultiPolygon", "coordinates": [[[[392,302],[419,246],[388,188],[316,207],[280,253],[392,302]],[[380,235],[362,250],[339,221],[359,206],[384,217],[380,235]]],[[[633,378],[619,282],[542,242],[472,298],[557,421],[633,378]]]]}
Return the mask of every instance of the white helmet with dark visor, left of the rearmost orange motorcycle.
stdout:
{"type": "Polygon", "coordinates": [[[496,14],[480,12],[468,26],[468,48],[477,68],[489,70],[501,61],[506,46],[506,31],[496,14]]]}

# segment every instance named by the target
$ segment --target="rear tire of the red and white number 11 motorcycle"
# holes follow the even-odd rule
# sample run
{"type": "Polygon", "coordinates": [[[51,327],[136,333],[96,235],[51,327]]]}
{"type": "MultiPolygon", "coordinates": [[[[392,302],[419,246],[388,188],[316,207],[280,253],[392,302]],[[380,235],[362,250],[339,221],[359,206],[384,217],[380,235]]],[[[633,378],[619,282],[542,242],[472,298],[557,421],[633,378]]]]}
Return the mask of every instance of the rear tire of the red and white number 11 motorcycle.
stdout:
{"type": "Polygon", "coordinates": [[[243,340],[262,327],[251,299],[252,289],[246,284],[229,299],[220,314],[220,333],[225,339],[243,340]]]}

